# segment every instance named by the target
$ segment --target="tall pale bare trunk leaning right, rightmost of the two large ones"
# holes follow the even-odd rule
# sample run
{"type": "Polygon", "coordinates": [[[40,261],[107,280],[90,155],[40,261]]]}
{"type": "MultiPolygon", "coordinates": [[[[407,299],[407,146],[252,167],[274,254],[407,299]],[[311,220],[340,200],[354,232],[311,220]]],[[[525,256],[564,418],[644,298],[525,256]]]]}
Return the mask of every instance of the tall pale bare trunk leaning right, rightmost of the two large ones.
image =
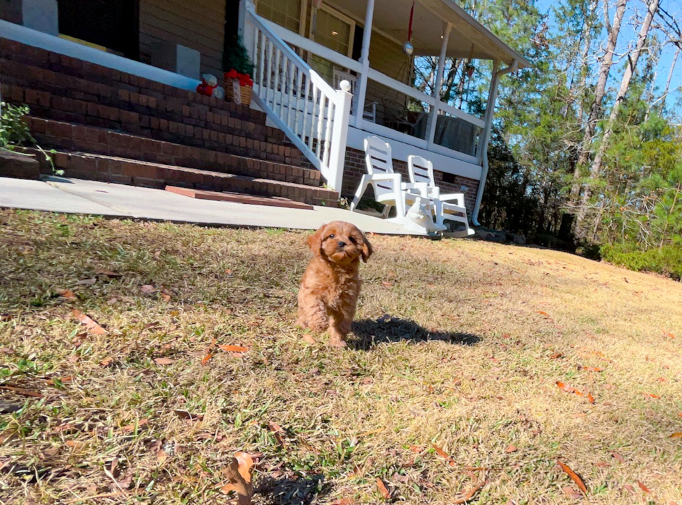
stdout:
{"type": "MultiPolygon", "coordinates": [[[[635,49],[633,49],[633,52],[629,55],[628,66],[625,68],[623,79],[621,79],[621,87],[618,90],[618,94],[616,95],[616,101],[614,102],[613,107],[611,109],[608,123],[606,125],[604,135],[601,139],[601,143],[599,145],[599,150],[596,154],[596,157],[594,157],[594,161],[592,162],[592,169],[590,170],[590,179],[593,180],[598,179],[599,173],[601,172],[601,165],[603,163],[604,154],[608,149],[609,139],[613,134],[612,130],[613,123],[617,118],[618,111],[620,109],[621,104],[623,103],[623,100],[625,99],[625,95],[626,93],[628,93],[630,81],[632,80],[633,74],[635,73],[635,67],[637,67],[637,60],[639,60],[640,54],[642,54],[642,47],[644,47],[644,42],[647,42],[647,36],[649,35],[649,29],[651,28],[653,16],[656,15],[656,10],[658,10],[658,1],[659,0],[651,0],[651,3],[649,3],[649,10],[647,10],[647,15],[644,16],[644,21],[642,22],[642,26],[640,27],[640,33],[639,35],[637,35],[637,45],[635,45],[635,49]]],[[[585,218],[585,213],[587,211],[587,201],[589,200],[591,193],[592,192],[590,191],[588,186],[587,188],[585,188],[585,192],[582,194],[582,202],[580,205],[580,209],[578,209],[578,216],[576,218],[576,230],[580,230],[580,223],[582,222],[582,219],[585,218]]]]}

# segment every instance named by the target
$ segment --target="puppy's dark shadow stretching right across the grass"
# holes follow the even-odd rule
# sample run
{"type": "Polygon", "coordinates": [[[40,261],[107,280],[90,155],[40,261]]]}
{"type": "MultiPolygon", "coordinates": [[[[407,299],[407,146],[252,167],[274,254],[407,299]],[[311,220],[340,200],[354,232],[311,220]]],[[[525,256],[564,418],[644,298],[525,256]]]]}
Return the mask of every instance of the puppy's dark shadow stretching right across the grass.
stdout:
{"type": "Polygon", "coordinates": [[[379,319],[354,321],[353,333],[356,338],[349,339],[348,344],[362,351],[369,351],[376,344],[399,342],[400,340],[413,342],[441,340],[463,346],[475,346],[482,340],[481,337],[473,335],[473,333],[432,332],[410,319],[399,319],[388,315],[379,319]]]}

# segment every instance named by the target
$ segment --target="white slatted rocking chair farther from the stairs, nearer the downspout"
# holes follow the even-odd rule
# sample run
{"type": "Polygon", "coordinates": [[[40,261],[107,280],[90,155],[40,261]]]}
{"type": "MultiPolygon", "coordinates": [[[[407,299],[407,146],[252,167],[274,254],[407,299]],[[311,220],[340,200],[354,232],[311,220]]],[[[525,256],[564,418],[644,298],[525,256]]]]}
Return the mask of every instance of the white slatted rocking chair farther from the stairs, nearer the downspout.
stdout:
{"type": "Polygon", "coordinates": [[[441,189],[436,186],[436,179],[434,178],[434,163],[428,159],[411,154],[407,157],[407,166],[410,181],[413,184],[427,184],[426,196],[434,202],[436,224],[445,227],[445,220],[455,221],[464,225],[464,232],[453,232],[452,236],[469,237],[473,235],[474,230],[469,227],[466,216],[463,193],[441,193],[441,189]]]}

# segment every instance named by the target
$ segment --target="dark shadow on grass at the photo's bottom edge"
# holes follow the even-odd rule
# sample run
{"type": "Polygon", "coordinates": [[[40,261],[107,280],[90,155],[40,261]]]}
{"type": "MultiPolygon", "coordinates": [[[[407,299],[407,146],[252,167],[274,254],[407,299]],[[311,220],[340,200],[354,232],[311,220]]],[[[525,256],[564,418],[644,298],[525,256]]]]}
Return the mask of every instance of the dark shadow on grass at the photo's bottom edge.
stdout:
{"type": "Polygon", "coordinates": [[[332,490],[331,483],[324,481],[324,475],[315,474],[296,478],[287,476],[275,479],[267,476],[260,479],[254,492],[268,505],[310,505],[332,490]]]}

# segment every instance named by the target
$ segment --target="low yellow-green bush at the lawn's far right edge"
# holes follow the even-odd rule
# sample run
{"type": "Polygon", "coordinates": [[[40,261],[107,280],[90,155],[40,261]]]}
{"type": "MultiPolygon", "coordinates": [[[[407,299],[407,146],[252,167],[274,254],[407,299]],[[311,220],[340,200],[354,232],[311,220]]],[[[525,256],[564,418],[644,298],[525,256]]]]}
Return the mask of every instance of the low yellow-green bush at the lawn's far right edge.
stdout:
{"type": "Polygon", "coordinates": [[[682,279],[682,247],[636,249],[629,244],[605,244],[601,257],[610,263],[640,272],[655,272],[682,279]]]}

